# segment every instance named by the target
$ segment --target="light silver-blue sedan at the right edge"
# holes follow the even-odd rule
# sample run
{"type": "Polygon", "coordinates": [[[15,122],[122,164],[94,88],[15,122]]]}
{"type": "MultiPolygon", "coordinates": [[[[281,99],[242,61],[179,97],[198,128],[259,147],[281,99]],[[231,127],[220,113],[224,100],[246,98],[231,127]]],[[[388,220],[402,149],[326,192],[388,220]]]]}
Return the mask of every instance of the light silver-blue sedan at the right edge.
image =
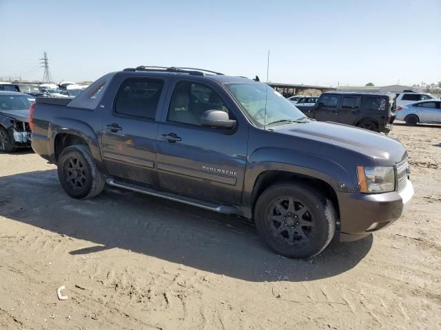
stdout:
{"type": "Polygon", "coordinates": [[[407,125],[418,123],[441,124],[441,100],[425,100],[398,106],[397,120],[404,120],[407,125]]]}

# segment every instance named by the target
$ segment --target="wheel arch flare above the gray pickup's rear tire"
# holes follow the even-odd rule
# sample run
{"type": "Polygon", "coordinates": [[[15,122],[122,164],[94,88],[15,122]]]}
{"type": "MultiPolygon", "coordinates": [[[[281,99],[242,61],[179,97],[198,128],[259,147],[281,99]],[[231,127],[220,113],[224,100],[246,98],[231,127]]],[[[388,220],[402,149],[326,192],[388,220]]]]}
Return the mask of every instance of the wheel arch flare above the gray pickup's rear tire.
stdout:
{"type": "Polygon", "coordinates": [[[91,126],[82,122],[81,120],[57,118],[54,122],[50,122],[48,126],[48,155],[53,159],[54,164],[57,164],[55,155],[55,139],[58,134],[71,134],[81,137],[88,144],[92,157],[96,162],[99,170],[103,170],[103,158],[101,156],[101,149],[99,145],[99,138],[91,126]],[[56,124],[54,124],[54,122],[56,124]],[[72,129],[71,127],[74,127],[72,129]]]}

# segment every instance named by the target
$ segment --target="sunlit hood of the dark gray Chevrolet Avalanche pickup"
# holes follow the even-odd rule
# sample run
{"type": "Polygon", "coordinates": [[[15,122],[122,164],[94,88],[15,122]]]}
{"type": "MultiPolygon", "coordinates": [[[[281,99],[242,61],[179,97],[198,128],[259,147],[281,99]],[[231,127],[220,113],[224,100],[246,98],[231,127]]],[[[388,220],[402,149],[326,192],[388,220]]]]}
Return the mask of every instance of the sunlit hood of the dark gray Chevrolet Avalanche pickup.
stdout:
{"type": "Polygon", "coordinates": [[[374,159],[380,166],[393,166],[407,157],[406,149],[398,140],[345,124],[311,120],[306,123],[277,126],[273,131],[361,153],[374,159]]]}

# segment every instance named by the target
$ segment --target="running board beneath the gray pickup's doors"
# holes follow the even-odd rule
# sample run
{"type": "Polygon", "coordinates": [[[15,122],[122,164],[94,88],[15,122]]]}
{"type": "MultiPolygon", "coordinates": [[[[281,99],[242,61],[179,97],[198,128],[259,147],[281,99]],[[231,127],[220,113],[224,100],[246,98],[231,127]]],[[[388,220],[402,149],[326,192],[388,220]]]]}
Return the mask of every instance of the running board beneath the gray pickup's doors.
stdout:
{"type": "Polygon", "coordinates": [[[197,206],[198,208],[205,208],[205,210],[210,210],[223,214],[240,214],[240,210],[236,206],[218,205],[216,203],[210,203],[209,201],[201,201],[201,199],[182,197],[180,195],[174,194],[173,192],[157,190],[155,188],[141,186],[140,184],[132,184],[130,182],[114,179],[113,177],[107,177],[105,182],[110,186],[141,192],[146,195],[170,199],[170,201],[178,201],[187,205],[197,206]]]}

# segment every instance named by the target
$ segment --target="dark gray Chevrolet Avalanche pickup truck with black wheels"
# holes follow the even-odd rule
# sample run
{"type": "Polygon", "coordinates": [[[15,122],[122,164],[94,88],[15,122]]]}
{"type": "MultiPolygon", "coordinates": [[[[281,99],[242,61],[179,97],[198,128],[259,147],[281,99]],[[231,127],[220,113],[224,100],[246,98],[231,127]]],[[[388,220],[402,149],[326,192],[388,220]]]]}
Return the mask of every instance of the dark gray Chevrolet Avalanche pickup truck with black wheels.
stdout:
{"type": "Polygon", "coordinates": [[[397,140],[308,119],[263,83],[207,70],[107,74],[72,100],[37,98],[30,124],[68,195],[107,183],[238,214],[292,258],[384,228],[413,196],[397,140]]]}

